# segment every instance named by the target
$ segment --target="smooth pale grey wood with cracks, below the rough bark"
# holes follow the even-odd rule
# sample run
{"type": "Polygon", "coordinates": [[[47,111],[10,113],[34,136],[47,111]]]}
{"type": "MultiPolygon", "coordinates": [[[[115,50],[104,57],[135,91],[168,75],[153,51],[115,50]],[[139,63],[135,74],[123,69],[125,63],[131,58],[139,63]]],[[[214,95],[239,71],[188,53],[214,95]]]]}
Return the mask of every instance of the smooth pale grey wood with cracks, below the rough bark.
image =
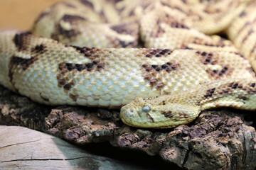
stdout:
{"type": "Polygon", "coordinates": [[[100,157],[58,137],[18,126],[0,126],[0,169],[144,169],[100,157]]]}

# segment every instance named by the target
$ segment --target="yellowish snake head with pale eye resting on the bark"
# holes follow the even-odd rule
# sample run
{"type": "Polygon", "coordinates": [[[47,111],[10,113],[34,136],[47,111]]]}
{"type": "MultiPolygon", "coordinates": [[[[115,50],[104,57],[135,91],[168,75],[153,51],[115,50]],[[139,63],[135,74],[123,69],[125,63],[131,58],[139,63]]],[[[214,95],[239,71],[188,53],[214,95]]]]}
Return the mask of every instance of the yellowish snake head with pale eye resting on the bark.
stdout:
{"type": "Polygon", "coordinates": [[[184,103],[164,103],[164,98],[135,98],[121,108],[120,118],[139,128],[174,128],[194,120],[200,113],[198,106],[184,103]]]}

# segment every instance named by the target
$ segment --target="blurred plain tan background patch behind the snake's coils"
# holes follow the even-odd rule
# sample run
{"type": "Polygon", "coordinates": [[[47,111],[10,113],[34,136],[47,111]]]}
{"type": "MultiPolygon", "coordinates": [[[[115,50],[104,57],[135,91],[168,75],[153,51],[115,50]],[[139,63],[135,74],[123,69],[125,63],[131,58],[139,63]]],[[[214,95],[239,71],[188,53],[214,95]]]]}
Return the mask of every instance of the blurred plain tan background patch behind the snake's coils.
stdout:
{"type": "Polygon", "coordinates": [[[63,0],[0,0],[0,29],[28,30],[44,8],[63,0]]]}

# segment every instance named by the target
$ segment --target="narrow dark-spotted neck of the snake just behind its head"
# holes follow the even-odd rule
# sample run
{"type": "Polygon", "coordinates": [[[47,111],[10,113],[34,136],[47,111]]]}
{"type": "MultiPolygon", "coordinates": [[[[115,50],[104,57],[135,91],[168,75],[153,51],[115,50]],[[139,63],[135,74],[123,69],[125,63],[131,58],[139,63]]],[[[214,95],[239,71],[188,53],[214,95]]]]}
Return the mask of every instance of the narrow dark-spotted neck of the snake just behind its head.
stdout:
{"type": "Polygon", "coordinates": [[[256,110],[255,82],[245,79],[216,81],[212,88],[204,89],[202,100],[195,104],[201,106],[201,111],[220,107],[254,111],[256,110]]]}

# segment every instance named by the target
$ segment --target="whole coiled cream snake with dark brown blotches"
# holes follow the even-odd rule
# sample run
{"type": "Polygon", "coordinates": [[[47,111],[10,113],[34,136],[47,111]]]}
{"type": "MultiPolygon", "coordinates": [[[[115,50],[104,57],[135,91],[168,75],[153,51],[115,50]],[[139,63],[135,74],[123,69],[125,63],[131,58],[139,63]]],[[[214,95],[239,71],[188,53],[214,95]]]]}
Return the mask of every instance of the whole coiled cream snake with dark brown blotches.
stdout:
{"type": "Polygon", "coordinates": [[[256,110],[256,2],[73,0],[0,31],[0,84],[37,103],[118,108],[138,128],[256,110]],[[221,35],[221,36],[220,36],[221,35]]]}

